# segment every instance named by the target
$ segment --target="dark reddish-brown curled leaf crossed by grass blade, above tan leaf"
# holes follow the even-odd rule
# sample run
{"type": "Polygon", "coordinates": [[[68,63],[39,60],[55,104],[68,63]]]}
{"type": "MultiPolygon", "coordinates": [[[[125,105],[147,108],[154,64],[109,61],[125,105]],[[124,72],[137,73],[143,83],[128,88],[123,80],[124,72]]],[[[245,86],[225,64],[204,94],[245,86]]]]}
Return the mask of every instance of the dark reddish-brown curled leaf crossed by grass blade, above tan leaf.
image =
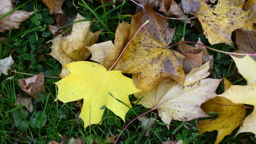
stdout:
{"type": "MultiPolygon", "coordinates": [[[[49,25],[49,30],[52,34],[54,34],[54,37],[60,35],[61,33],[65,32],[67,29],[72,27],[71,25],[65,26],[67,24],[70,24],[73,22],[73,17],[66,17],[64,14],[57,14],[57,18],[56,18],[56,25],[49,25]],[[60,28],[62,26],[65,26],[63,28],[60,28]],[[60,28],[60,29],[57,29],[60,28]]],[[[72,32],[72,30],[69,30],[67,32],[65,32],[62,36],[68,36],[70,35],[72,32]]]]}

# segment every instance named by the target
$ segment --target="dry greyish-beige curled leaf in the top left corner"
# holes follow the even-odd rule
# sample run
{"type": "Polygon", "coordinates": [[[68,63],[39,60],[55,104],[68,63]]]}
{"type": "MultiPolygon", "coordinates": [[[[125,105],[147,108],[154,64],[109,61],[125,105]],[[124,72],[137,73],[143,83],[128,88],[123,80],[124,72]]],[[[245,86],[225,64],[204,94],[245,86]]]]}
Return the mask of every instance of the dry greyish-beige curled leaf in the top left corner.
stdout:
{"type": "MultiPolygon", "coordinates": [[[[4,15],[7,12],[13,10],[11,0],[0,0],[0,15],[4,15]]],[[[34,11],[14,11],[11,14],[0,19],[0,32],[6,30],[18,29],[19,25],[29,18],[29,15],[33,15],[34,11]]]]}

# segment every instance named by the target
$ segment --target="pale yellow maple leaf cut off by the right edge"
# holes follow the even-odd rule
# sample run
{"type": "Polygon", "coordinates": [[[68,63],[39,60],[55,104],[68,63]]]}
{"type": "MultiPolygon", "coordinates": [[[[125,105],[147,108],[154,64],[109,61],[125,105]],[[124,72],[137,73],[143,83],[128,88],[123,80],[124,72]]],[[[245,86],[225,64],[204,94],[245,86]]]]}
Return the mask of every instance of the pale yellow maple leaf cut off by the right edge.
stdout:
{"type": "MultiPolygon", "coordinates": [[[[240,74],[247,81],[247,85],[232,85],[225,93],[219,94],[219,97],[227,98],[232,103],[245,103],[256,106],[256,62],[246,55],[244,58],[231,56],[240,74]]],[[[256,134],[256,112],[254,111],[247,116],[240,129],[236,133],[252,132],[256,134]]]]}

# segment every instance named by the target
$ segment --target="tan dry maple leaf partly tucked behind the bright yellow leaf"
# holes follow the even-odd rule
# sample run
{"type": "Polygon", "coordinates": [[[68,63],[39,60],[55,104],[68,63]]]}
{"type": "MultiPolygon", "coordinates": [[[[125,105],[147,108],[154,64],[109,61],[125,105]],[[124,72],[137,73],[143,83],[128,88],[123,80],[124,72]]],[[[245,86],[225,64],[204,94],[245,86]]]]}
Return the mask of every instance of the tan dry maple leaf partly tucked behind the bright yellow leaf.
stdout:
{"type": "MultiPolygon", "coordinates": [[[[79,13],[74,21],[85,20],[79,13]]],[[[90,31],[91,22],[82,21],[73,24],[72,33],[66,37],[58,35],[52,42],[52,52],[49,54],[61,65],[67,63],[83,61],[88,58],[90,51],[85,46],[92,46],[99,37],[101,31],[92,33],[90,31]]],[[[59,77],[63,78],[70,72],[66,68],[62,68],[59,77]]]]}

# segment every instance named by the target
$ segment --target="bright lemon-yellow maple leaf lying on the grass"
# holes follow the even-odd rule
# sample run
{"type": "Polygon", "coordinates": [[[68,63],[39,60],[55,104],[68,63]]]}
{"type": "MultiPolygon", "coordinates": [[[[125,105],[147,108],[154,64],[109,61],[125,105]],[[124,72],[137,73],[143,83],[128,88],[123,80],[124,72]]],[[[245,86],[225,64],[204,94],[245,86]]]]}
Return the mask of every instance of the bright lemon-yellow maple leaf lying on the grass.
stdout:
{"type": "Polygon", "coordinates": [[[85,128],[89,124],[101,121],[106,106],[123,120],[131,107],[128,95],[139,90],[132,83],[132,79],[123,76],[121,71],[109,71],[98,63],[78,61],[64,65],[70,74],[55,84],[58,86],[58,99],[63,103],[83,98],[83,107],[79,117],[83,119],[85,128]],[[112,94],[115,98],[111,97],[112,94]]]}

